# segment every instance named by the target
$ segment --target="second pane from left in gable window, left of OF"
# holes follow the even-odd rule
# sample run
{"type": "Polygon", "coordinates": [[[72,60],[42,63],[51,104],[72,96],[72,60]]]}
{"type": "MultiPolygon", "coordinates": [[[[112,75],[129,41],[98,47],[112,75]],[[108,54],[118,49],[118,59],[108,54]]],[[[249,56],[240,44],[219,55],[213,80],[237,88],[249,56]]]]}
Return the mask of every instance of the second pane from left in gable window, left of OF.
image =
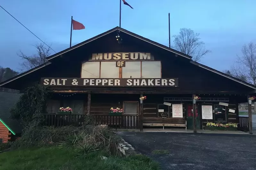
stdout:
{"type": "Polygon", "coordinates": [[[119,78],[119,67],[116,62],[101,62],[100,78],[119,78]]]}

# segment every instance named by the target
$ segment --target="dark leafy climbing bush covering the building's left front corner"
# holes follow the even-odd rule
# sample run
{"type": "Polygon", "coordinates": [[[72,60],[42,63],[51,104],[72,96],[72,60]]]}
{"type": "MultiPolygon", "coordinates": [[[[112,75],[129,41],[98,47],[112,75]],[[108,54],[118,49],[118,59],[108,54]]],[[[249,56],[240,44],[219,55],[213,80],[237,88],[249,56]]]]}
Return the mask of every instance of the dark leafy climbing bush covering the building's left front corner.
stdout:
{"type": "Polygon", "coordinates": [[[41,126],[44,122],[43,113],[50,90],[39,84],[28,87],[11,110],[14,119],[21,120],[24,128],[41,126]]]}

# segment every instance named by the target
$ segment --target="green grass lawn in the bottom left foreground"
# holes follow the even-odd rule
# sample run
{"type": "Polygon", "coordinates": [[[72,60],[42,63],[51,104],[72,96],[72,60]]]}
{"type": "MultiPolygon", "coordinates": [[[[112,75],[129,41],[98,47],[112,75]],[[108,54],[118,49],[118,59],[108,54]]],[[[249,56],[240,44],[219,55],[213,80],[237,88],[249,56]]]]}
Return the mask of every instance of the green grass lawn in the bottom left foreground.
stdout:
{"type": "Polygon", "coordinates": [[[102,160],[103,152],[77,156],[72,149],[56,147],[18,149],[0,153],[1,170],[157,170],[159,166],[146,156],[117,156],[102,160]]]}

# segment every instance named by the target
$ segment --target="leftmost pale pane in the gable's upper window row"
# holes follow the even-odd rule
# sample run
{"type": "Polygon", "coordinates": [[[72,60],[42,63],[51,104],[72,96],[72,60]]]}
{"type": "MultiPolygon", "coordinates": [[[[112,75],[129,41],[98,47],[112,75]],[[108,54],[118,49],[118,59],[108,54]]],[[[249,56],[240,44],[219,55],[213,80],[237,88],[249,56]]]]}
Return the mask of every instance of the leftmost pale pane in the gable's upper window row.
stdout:
{"type": "Polygon", "coordinates": [[[99,78],[100,62],[82,63],[81,78],[99,78]]]}

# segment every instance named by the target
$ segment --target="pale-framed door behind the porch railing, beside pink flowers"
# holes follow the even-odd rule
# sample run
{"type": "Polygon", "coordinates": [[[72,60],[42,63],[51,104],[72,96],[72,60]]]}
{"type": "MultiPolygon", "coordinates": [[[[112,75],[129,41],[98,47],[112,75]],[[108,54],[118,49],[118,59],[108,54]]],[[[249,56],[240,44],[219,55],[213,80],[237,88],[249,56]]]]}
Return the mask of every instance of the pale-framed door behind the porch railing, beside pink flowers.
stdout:
{"type": "Polygon", "coordinates": [[[137,127],[138,101],[124,101],[124,127],[137,127]]]}

